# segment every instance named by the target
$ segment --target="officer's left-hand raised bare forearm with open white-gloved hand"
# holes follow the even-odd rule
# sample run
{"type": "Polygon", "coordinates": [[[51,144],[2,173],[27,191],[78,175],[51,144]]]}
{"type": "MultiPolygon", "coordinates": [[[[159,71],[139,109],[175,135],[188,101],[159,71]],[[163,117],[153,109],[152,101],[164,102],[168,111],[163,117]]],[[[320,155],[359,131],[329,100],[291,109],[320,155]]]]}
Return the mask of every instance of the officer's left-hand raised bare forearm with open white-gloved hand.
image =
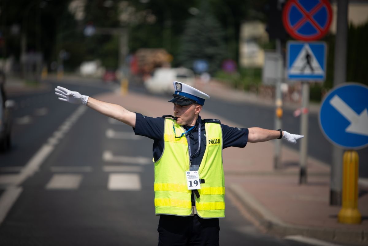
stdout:
{"type": "Polygon", "coordinates": [[[99,101],[95,98],[81,95],[77,91],[70,91],[60,86],[55,89],[55,94],[59,96],[61,101],[87,105],[89,108],[94,109],[103,115],[112,117],[129,126],[135,127],[135,113],[130,112],[120,105],[99,101]]]}

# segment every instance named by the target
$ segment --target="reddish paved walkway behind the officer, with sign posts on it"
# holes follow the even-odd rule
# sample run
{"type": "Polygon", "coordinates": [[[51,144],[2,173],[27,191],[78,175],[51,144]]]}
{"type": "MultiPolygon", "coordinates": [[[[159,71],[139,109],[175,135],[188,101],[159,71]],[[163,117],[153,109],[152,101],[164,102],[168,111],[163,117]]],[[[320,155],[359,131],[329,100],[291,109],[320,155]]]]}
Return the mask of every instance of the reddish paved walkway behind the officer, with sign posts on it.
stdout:
{"type": "MultiPolygon", "coordinates": [[[[226,93],[230,95],[232,92],[226,93]]],[[[128,110],[147,116],[158,117],[172,112],[170,103],[132,92],[125,96],[105,94],[98,99],[123,105],[128,110]]],[[[244,127],[231,122],[231,119],[208,113],[205,108],[201,116],[220,119],[230,126],[244,127]]],[[[362,223],[339,224],[337,214],[340,207],[329,206],[329,167],[309,158],[308,183],[299,185],[298,152],[283,147],[284,168],[275,171],[273,146],[272,141],[248,143],[244,149],[227,148],[223,153],[227,193],[242,202],[256,224],[263,231],[279,236],[304,235],[349,245],[367,245],[368,187],[361,187],[360,192],[362,223]]]]}

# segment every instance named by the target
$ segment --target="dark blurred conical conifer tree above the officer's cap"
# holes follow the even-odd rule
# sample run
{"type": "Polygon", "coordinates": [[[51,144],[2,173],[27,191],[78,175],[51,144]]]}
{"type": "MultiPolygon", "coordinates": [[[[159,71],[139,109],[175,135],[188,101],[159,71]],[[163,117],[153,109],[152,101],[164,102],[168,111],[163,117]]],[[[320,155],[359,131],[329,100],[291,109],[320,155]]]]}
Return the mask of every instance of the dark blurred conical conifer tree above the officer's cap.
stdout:
{"type": "Polygon", "coordinates": [[[213,74],[220,69],[224,58],[224,31],[211,14],[208,3],[203,1],[199,13],[185,24],[178,59],[188,68],[192,68],[195,60],[204,59],[209,63],[209,73],[213,74]]]}

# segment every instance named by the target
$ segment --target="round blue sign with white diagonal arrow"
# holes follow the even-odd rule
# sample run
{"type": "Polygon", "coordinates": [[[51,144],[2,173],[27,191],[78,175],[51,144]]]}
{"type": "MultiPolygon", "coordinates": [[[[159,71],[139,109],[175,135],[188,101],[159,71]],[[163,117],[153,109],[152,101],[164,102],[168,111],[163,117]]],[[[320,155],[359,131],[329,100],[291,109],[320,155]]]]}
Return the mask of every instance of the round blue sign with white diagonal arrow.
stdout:
{"type": "Polygon", "coordinates": [[[326,95],[319,112],[319,126],[338,147],[357,150],[368,146],[368,87],[345,83],[326,95]]]}

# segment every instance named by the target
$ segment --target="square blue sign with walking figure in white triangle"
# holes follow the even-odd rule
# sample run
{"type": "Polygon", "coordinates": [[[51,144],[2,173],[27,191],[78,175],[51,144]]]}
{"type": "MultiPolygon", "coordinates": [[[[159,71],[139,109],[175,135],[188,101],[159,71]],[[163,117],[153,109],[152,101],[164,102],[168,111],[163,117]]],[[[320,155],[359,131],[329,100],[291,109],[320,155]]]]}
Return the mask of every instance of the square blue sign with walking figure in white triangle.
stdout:
{"type": "Polygon", "coordinates": [[[325,42],[287,42],[288,80],[324,81],[326,77],[325,42]]]}

